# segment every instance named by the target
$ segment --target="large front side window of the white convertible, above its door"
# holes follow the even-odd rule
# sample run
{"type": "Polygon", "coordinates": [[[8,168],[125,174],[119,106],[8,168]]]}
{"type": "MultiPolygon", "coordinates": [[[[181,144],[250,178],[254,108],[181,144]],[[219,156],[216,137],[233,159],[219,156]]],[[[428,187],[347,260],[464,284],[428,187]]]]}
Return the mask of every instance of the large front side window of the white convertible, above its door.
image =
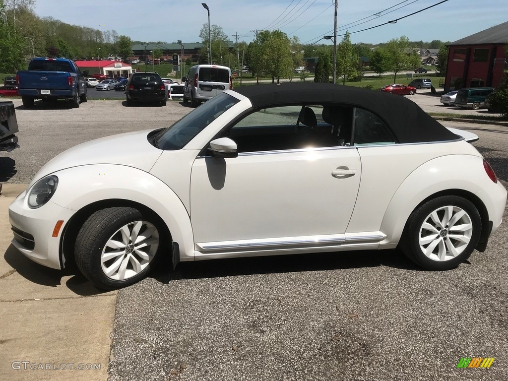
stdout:
{"type": "Polygon", "coordinates": [[[257,110],[222,136],[233,139],[239,153],[338,147],[345,139],[339,136],[340,122],[330,107],[293,105],[257,110]]]}

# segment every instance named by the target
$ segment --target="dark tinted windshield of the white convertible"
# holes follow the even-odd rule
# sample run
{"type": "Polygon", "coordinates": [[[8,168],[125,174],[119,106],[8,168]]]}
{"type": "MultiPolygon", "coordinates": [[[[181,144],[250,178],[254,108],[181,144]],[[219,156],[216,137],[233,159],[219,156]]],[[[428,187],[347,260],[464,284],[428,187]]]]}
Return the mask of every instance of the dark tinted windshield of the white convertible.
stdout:
{"type": "Polygon", "coordinates": [[[166,150],[182,149],[208,124],[238,102],[229,94],[219,94],[155,136],[155,146],[166,150]]]}

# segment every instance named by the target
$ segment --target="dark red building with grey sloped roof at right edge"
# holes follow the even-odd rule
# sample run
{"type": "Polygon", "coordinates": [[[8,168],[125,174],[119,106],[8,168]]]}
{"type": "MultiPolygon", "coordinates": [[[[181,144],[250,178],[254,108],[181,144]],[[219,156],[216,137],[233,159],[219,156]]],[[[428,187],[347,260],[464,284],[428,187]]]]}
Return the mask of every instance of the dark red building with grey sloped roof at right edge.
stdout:
{"type": "Polygon", "coordinates": [[[507,57],[508,21],[464,37],[449,45],[444,92],[463,87],[497,87],[507,57]]]}

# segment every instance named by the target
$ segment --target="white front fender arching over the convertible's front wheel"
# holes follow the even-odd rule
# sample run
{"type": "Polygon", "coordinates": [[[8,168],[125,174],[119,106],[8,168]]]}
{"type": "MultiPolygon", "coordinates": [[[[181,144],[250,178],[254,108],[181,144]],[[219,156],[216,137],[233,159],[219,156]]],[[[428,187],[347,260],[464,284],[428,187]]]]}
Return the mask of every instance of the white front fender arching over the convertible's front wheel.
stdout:
{"type": "MultiPolygon", "coordinates": [[[[150,208],[167,225],[177,242],[180,260],[194,260],[194,236],[189,215],[178,196],[157,177],[137,168],[97,164],[54,172],[58,187],[51,201],[79,211],[104,200],[129,200],[150,208]]],[[[68,221],[65,221],[66,225],[68,221]]]]}

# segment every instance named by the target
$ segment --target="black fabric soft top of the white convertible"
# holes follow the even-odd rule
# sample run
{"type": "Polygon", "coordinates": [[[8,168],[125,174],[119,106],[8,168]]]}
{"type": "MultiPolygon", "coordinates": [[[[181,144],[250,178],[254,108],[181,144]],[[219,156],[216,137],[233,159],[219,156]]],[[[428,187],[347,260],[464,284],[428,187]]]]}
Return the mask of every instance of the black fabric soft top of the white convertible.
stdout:
{"type": "Polygon", "coordinates": [[[332,83],[281,83],[235,89],[256,109],[283,105],[335,104],[369,110],[390,126],[399,143],[457,140],[459,137],[404,97],[332,83]]]}

